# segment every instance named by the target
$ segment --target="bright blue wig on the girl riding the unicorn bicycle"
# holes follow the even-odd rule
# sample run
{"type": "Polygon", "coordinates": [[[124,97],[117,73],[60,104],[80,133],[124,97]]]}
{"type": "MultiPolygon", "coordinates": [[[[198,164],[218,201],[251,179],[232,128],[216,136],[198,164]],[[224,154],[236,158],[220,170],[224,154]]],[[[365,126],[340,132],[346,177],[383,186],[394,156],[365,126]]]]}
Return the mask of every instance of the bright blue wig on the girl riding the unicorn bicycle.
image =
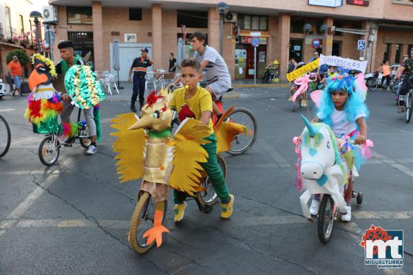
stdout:
{"type": "Polygon", "coordinates": [[[334,92],[339,92],[340,90],[345,91],[348,94],[346,103],[344,104],[344,118],[343,120],[348,120],[354,122],[359,113],[365,113],[366,118],[368,117],[368,109],[366,104],[364,104],[363,98],[361,98],[359,92],[356,92],[354,85],[354,78],[351,76],[334,77],[328,79],[328,85],[322,93],[321,104],[317,110],[317,117],[324,123],[331,125],[331,114],[335,109],[334,102],[332,101],[331,94],[334,92]]]}

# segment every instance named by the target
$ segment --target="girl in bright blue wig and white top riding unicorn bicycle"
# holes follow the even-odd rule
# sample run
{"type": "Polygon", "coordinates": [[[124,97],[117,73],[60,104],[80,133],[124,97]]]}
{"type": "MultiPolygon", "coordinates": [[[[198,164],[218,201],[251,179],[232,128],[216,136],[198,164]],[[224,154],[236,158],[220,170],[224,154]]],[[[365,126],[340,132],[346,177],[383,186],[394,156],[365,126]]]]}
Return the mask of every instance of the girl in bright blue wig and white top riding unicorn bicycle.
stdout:
{"type": "MultiPolygon", "coordinates": [[[[366,142],[368,108],[364,104],[361,91],[357,91],[354,78],[344,74],[327,80],[327,86],[321,95],[321,102],[317,110],[317,118],[331,127],[336,137],[352,140],[354,144],[366,142]]],[[[348,170],[350,171],[348,185],[344,195],[347,204],[347,214],[341,215],[342,221],[351,219],[352,200],[352,170],[353,164],[359,170],[362,162],[361,150],[353,147],[343,152],[348,170]]],[[[355,171],[354,171],[355,172],[355,171]]],[[[313,196],[310,214],[317,215],[319,210],[319,195],[313,196]]]]}

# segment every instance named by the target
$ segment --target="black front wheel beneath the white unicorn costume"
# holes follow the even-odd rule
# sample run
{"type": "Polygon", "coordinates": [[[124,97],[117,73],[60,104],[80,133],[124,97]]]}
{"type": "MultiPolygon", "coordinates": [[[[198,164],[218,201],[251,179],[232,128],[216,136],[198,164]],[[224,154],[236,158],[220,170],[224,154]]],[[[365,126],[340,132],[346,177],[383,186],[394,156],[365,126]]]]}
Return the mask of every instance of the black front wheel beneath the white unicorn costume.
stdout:
{"type": "Polygon", "coordinates": [[[333,211],[334,201],[328,194],[323,195],[317,221],[317,232],[321,243],[328,243],[332,234],[335,213],[333,211]]]}

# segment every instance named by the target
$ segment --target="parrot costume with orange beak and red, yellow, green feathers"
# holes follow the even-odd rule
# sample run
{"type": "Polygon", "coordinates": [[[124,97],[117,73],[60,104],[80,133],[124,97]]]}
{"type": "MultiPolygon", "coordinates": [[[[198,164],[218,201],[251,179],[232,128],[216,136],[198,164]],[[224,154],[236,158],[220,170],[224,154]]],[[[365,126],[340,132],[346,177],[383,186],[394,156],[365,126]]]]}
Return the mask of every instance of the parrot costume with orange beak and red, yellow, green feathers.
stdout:
{"type": "Polygon", "coordinates": [[[32,56],[32,65],[34,70],[29,77],[32,92],[24,117],[32,123],[34,133],[54,133],[59,131],[58,115],[63,110],[61,98],[52,85],[56,71],[52,61],[41,54],[32,56]]]}

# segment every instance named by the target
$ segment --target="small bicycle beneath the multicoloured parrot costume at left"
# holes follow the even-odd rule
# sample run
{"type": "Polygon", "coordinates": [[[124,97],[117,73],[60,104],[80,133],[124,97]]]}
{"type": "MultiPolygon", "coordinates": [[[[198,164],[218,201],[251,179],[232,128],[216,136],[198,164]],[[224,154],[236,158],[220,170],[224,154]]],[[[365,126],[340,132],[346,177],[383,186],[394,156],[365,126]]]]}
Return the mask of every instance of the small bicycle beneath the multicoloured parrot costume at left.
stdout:
{"type": "Polygon", "coordinates": [[[59,142],[58,133],[47,134],[39,145],[39,159],[45,166],[52,166],[57,162],[60,155],[61,146],[72,147],[72,144],[78,139],[83,148],[88,148],[92,143],[90,140],[89,130],[87,130],[87,123],[81,122],[81,109],[78,111],[77,118],[77,134],[70,137],[65,144],[59,142]]]}

